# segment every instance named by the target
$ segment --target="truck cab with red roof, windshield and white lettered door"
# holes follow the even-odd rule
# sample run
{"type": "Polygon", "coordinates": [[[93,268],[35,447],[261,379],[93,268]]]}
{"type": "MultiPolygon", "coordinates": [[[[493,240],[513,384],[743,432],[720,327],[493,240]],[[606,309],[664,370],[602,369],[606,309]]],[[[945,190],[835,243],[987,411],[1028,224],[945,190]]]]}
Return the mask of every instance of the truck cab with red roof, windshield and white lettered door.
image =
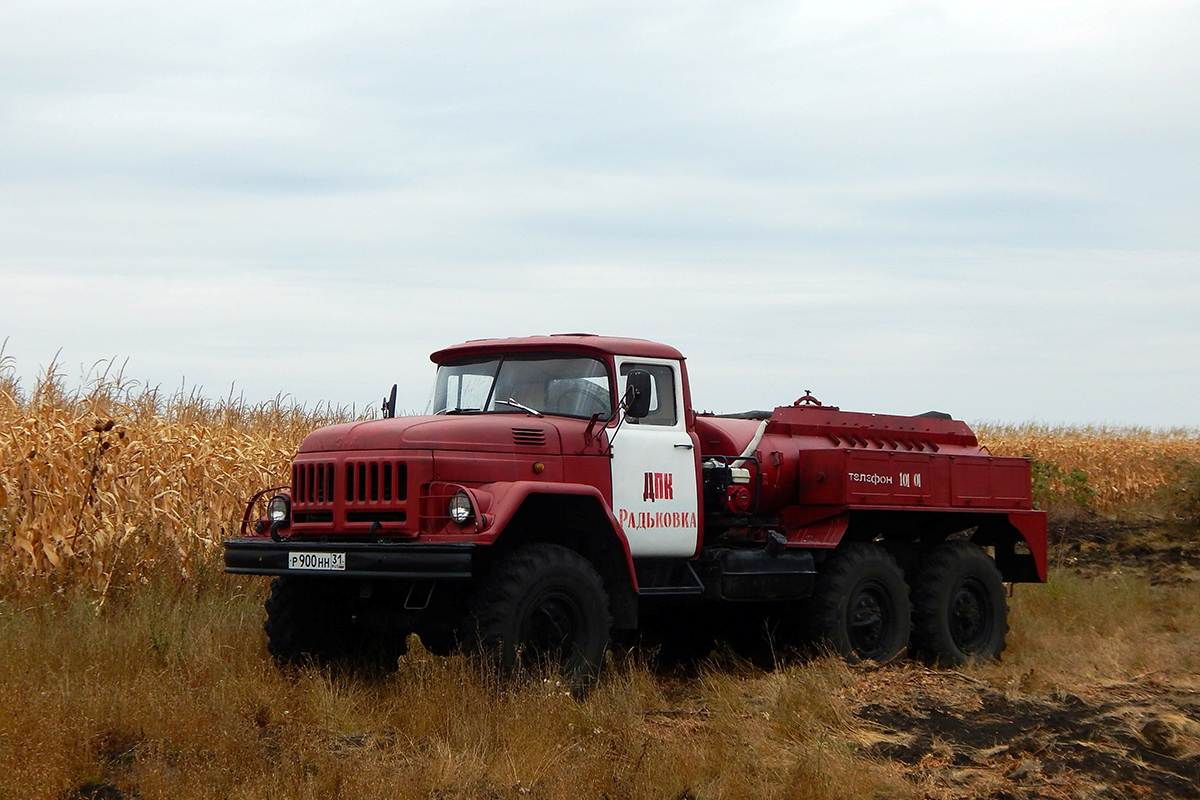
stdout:
{"type": "Polygon", "coordinates": [[[636,339],[560,336],[467,343],[433,360],[434,415],[523,415],[529,425],[554,427],[562,476],[542,471],[528,480],[598,489],[631,558],[698,553],[698,441],[677,350],[636,339]],[[636,391],[631,375],[640,381],[636,391]],[[635,410],[626,398],[638,391],[642,408],[635,410]]]}

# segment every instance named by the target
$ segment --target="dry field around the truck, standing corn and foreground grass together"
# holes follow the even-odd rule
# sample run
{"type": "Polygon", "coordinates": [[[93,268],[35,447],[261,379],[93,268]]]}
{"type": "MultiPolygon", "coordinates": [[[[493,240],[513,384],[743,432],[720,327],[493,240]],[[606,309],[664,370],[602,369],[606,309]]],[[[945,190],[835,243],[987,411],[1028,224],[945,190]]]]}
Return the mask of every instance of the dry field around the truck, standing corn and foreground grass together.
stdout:
{"type": "Polygon", "coordinates": [[[53,371],[22,391],[0,359],[0,796],[1198,796],[1200,432],[980,426],[1036,459],[1060,537],[1132,530],[1182,565],[1147,570],[1129,536],[1060,542],[1051,583],[1016,588],[1000,663],[720,652],[665,674],[618,652],[578,702],[415,639],[386,678],[275,669],[266,582],[222,575],[220,541],[305,433],[349,416],[53,371]]]}

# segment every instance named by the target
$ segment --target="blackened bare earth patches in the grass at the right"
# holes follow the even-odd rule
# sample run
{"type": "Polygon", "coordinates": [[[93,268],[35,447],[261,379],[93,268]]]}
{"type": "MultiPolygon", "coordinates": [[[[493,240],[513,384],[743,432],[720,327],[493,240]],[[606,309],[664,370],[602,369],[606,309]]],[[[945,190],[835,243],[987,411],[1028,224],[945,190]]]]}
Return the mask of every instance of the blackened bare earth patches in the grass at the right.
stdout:
{"type": "MultiPolygon", "coordinates": [[[[1200,591],[1200,545],[1151,527],[1074,521],[1060,569],[1133,571],[1200,591]]],[[[926,798],[1200,798],[1200,676],[1152,673],[1039,693],[905,664],[850,687],[863,745],[926,798]]]]}

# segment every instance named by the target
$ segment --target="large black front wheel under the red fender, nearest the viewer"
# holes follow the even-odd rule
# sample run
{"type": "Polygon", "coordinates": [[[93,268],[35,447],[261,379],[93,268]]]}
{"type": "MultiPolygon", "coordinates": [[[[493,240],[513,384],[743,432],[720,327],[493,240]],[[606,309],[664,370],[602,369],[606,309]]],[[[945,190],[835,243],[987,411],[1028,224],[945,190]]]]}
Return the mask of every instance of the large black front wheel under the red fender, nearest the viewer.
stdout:
{"type": "Polygon", "coordinates": [[[595,682],[612,628],[604,581],[560,545],[527,545],[502,557],[472,595],[473,649],[505,674],[557,670],[572,692],[595,682]]]}

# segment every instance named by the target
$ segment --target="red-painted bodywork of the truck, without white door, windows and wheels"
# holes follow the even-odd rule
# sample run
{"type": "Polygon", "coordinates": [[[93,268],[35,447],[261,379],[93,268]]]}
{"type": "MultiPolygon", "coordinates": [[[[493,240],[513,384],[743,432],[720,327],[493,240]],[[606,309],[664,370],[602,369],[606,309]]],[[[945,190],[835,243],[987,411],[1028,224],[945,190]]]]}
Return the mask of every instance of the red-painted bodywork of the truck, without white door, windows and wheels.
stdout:
{"type": "MultiPolygon", "coordinates": [[[[791,547],[824,549],[836,547],[864,512],[960,515],[965,527],[1002,516],[1025,540],[1037,576],[1045,579],[1045,518],[1032,511],[1030,462],[991,456],[962,421],[842,411],[808,396],[756,419],[697,415],[690,410],[682,354],[644,339],[479,339],[431,359],[443,365],[498,353],[586,355],[611,372],[618,355],[677,363],[689,435],[698,447],[696,480],[703,480],[706,459],[744,464],[752,474],[746,492],[760,536],[774,528],[791,547]]],[[[619,444],[617,431],[616,416],[596,425],[517,413],[396,417],[314,431],[293,464],[289,536],[467,536],[487,545],[530,494],[576,492],[601,503],[628,553],[626,531],[612,511],[608,446],[619,444]],[[442,511],[442,495],[460,488],[472,493],[482,512],[469,529],[449,524],[442,511]]],[[[714,519],[713,509],[703,511],[701,543],[714,519]]],[[[722,530],[730,528],[727,519],[720,522],[722,530]]]]}

